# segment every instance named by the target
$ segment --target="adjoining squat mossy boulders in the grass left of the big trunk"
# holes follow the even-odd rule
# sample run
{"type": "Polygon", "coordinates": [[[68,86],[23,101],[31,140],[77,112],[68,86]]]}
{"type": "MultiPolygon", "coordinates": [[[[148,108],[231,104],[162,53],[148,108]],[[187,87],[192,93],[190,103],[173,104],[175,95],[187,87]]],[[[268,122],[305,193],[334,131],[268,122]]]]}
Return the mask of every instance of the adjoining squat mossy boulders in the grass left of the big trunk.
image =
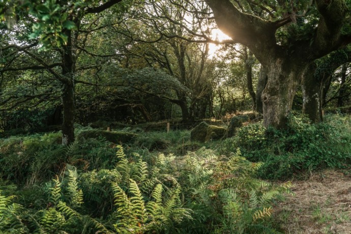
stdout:
{"type": "Polygon", "coordinates": [[[208,125],[201,122],[190,133],[191,141],[207,142],[209,140],[217,140],[223,137],[225,128],[214,125],[208,125]]]}

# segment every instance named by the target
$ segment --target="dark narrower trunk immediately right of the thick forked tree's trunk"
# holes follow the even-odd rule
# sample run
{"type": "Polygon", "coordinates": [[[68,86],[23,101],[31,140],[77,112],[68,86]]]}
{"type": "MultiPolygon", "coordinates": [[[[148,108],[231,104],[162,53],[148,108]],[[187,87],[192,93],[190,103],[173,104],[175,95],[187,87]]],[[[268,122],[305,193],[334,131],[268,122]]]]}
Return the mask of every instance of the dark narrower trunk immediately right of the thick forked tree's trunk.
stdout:
{"type": "Polygon", "coordinates": [[[314,75],[316,65],[311,63],[302,76],[302,112],[308,116],[312,123],[323,120],[321,111],[322,82],[314,75]]]}

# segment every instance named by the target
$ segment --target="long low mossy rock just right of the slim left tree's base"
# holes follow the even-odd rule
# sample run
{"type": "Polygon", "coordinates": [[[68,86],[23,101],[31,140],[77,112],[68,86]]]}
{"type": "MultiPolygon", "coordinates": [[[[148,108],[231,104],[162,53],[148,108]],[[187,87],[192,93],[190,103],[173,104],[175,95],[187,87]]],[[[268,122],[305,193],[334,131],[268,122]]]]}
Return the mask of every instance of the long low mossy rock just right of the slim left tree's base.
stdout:
{"type": "Polygon", "coordinates": [[[88,138],[98,138],[99,136],[106,138],[106,140],[111,141],[115,144],[126,143],[137,137],[137,134],[128,132],[113,132],[106,130],[86,130],[82,131],[77,135],[77,140],[88,139],[88,138]]]}

